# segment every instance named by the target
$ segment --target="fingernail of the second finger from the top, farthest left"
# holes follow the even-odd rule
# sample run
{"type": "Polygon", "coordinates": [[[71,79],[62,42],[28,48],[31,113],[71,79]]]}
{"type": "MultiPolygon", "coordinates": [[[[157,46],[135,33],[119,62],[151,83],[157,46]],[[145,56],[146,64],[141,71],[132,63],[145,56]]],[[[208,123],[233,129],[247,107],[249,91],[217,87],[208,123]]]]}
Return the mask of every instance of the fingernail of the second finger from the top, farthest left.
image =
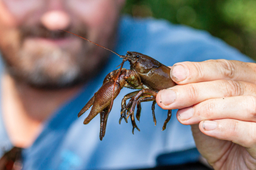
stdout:
{"type": "Polygon", "coordinates": [[[176,99],[176,93],[174,90],[171,89],[165,89],[159,91],[160,95],[160,102],[164,105],[168,106],[169,104],[172,104],[176,99]]]}

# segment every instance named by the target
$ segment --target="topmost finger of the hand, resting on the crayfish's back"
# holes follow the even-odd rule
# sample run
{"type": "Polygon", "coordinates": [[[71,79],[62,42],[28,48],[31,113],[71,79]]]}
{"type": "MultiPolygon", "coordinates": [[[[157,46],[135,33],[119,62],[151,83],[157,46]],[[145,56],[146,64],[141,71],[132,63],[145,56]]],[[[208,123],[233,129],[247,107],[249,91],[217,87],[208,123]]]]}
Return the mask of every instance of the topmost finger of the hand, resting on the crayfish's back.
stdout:
{"type": "Polygon", "coordinates": [[[171,69],[171,79],[178,84],[210,80],[239,80],[255,83],[256,64],[227,59],[176,63],[171,69]]]}

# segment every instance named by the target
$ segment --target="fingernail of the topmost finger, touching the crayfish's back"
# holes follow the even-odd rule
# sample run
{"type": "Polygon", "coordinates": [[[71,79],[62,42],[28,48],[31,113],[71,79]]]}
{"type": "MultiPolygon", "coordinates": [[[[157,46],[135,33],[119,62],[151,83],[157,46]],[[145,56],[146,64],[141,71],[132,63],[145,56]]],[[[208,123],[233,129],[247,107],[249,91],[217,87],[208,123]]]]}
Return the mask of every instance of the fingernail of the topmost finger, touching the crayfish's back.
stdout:
{"type": "Polygon", "coordinates": [[[176,82],[185,80],[188,76],[188,69],[180,64],[174,65],[171,68],[171,79],[176,82]]]}

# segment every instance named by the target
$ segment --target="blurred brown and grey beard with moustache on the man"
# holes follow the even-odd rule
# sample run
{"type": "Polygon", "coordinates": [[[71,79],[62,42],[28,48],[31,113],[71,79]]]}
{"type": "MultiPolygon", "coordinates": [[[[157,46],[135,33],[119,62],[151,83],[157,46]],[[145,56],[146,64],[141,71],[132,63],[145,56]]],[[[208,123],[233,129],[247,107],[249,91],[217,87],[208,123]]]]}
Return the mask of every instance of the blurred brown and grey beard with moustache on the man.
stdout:
{"type": "MultiPolygon", "coordinates": [[[[85,29],[67,31],[88,37],[85,29]]],[[[33,28],[22,26],[16,37],[17,41],[7,43],[7,48],[0,47],[5,67],[15,80],[31,87],[57,89],[80,85],[99,73],[108,59],[109,53],[105,50],[67,32],[50,31],[40,25],[33,28]],[[71,46],[53,46],[37,43],[36,38],[53,41],[71,38],[76,41],[71,46]]]]}

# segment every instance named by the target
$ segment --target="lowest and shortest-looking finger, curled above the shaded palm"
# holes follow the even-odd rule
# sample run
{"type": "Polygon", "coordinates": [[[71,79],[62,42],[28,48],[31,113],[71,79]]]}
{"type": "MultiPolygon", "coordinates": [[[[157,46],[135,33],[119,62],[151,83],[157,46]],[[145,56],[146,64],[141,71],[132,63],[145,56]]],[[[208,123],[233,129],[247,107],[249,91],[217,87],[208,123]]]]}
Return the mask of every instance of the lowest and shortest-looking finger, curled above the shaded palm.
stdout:
{"type": "Polygon", "coordinates": [[[202,121],[199,129],[203,134],[220,140],[232,141],[247,148],[251,156],[256,158],[256,123],[222,119],[216,121],[202,121]]]}

